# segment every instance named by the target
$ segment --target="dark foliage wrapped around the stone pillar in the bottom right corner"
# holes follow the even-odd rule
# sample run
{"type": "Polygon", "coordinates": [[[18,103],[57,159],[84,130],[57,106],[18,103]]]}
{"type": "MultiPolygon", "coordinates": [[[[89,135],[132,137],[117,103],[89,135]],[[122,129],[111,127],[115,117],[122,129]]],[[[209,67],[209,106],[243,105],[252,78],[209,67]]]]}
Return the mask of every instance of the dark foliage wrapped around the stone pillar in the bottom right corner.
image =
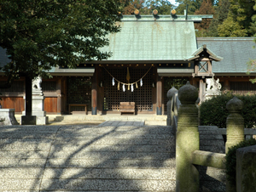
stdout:
{"type": "Polygon", "coordinates": [[[236,150],[242,147],[252,146],[255,144],[256,139],[250,138],[229,148],[229,151],[226,155],[225,163],[227,180],[230,182],[231,185],[236,186],[236,150]]]}

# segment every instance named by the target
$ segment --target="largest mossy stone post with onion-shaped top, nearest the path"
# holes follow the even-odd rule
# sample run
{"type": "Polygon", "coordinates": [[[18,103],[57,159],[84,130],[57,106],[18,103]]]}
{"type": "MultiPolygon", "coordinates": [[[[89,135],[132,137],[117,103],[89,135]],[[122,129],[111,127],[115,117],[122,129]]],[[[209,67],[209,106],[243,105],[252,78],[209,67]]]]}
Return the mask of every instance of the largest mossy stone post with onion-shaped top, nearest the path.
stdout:
{"type": "Polygon", "coordinates": [[[197,88],[187,82],[178,90],[181,106],[177,111],[176,191],[198,192],[199,172],[192,164],[192,153],[199,150],[197,88]]]}

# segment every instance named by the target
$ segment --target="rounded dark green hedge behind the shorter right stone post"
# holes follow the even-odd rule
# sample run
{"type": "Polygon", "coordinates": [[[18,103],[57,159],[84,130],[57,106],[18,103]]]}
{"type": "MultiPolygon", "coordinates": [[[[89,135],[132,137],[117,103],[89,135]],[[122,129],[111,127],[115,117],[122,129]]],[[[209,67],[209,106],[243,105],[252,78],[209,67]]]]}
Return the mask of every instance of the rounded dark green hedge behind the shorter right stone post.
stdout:
{"type": "MultiPolygon", "coordinates": [[[[226,110],[226,104],[235,95],[231,92],[224,92],[214,96],[201,104],[201,125],[226,127],[226,118],[230,115],[226,110]]],[[[244,107],[241,116],[244,118],[245,128],[254,128],[256,125],[256,95],[236,95],[243,101],[244,107]]]]}

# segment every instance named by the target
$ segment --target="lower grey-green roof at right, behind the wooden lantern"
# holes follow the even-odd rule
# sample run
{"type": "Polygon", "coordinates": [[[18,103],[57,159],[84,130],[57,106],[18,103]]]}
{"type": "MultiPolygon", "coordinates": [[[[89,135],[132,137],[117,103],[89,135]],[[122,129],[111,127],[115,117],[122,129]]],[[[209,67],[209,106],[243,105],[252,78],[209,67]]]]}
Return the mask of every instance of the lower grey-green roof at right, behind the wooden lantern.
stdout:
{"type": "Polygon", "coordinates": [[[249,59],[256,59],[253,39],[254,37],[198,37],[197,43],[198,46],[207,44],[207,48],[224,58],[219,62],[212,61],[212,72],[246,75],[247,62],[249,59]]]}

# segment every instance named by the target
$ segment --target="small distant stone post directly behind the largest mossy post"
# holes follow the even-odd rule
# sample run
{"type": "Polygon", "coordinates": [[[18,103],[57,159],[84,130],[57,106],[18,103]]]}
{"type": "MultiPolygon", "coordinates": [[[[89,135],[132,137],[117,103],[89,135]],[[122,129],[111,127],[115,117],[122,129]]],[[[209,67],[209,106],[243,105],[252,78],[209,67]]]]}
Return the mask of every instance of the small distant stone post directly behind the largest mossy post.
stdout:
{"type": "Polygon", "coordinates": [[[175,93],[177,93],[177,89],[172,87],[168,92],[167,92],[167,98],[168,98],[168,102],[167,102],[167,119],[166,119],[166,126],[172,126],[173,125],[173,121],[172,121],[172,117],[173,117],[173,103],[174,103],[174,95],[175,93]]]}

